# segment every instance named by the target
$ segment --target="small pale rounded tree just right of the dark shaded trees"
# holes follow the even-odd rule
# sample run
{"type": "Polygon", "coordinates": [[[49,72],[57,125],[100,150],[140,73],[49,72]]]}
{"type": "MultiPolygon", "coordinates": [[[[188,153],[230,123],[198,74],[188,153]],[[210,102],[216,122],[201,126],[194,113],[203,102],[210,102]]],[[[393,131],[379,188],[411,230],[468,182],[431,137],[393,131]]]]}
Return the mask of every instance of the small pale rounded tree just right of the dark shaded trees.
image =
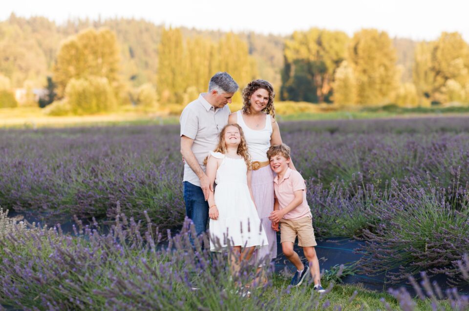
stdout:
{"type": "Polygon", "coordinates": [[[340,106],[354,105],[357,102],[357,82],[353,68],[343,61],[334,75],[334,103],[340,106]]]}

